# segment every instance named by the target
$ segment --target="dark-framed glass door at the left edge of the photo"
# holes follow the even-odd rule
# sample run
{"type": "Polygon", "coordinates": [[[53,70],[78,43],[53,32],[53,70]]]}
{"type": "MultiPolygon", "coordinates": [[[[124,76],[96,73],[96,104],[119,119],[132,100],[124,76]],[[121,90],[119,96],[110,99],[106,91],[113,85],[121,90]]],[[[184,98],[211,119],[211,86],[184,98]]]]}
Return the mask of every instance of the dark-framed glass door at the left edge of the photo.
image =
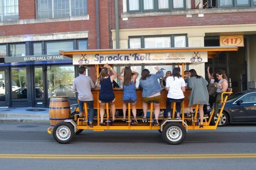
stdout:
{"type": "Polygon", "coordinates": [[[7,68],[0,68],[0,107],[8,107],[9,84],[7,68]]]}

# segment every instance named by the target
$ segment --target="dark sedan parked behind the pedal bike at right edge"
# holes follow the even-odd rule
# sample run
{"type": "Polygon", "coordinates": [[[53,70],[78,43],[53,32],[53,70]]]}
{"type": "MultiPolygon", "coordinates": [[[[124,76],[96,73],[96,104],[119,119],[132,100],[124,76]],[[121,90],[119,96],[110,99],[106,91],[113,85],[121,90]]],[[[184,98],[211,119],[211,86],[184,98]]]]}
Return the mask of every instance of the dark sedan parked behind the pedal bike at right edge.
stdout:
{"type": "MultiPolygon", "coordinates": [[[[219,110],[221,105],[219,106],[219,110]]],[[[219,114],[213,116],[211,123],[215,125],[219,114]]],[[[218,126],[227,123],[256,122],[256,90],[247,90],[232,94],[224,107],[218,126]]]]}

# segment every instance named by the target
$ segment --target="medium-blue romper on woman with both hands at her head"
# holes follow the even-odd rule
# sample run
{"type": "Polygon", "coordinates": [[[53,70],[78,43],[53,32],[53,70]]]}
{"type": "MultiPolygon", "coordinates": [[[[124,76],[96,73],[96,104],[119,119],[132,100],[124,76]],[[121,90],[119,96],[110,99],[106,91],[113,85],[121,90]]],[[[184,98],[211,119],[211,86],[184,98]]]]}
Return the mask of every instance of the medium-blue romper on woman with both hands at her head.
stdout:
{"type": "Polygon", "coordinates": [[[123,84],[123,100],[137,101],[137,93],[133,81],[131,81],[130,85],[123,84]]]}

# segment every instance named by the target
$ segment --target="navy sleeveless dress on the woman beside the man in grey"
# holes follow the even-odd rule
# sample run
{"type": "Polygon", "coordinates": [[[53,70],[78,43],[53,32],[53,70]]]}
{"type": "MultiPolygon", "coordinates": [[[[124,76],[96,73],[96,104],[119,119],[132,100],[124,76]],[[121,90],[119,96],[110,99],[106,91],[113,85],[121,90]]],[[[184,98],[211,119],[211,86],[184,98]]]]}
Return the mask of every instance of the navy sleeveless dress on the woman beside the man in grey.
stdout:
{"type": "Polygon", "coordinates": [[[113,83],[110,80],[110,76],[100,82],[101,90],[99,94],[99,100],[110,102],[115,99],[115,94],[113,92],[113,83]]]}

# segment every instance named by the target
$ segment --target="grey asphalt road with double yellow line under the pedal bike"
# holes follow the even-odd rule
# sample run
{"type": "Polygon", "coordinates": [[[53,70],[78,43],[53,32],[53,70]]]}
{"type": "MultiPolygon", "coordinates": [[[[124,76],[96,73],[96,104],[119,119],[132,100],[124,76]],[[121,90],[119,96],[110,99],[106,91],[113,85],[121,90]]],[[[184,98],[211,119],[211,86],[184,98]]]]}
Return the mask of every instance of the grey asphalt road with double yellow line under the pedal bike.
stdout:
{"type": "Polygon", "coordinates": [[[48,127],[0,123],[0,169],[255,169],[255,124],[188,131],[180,145],[158,131],[83,131],[59,144],[48,127]]]}

